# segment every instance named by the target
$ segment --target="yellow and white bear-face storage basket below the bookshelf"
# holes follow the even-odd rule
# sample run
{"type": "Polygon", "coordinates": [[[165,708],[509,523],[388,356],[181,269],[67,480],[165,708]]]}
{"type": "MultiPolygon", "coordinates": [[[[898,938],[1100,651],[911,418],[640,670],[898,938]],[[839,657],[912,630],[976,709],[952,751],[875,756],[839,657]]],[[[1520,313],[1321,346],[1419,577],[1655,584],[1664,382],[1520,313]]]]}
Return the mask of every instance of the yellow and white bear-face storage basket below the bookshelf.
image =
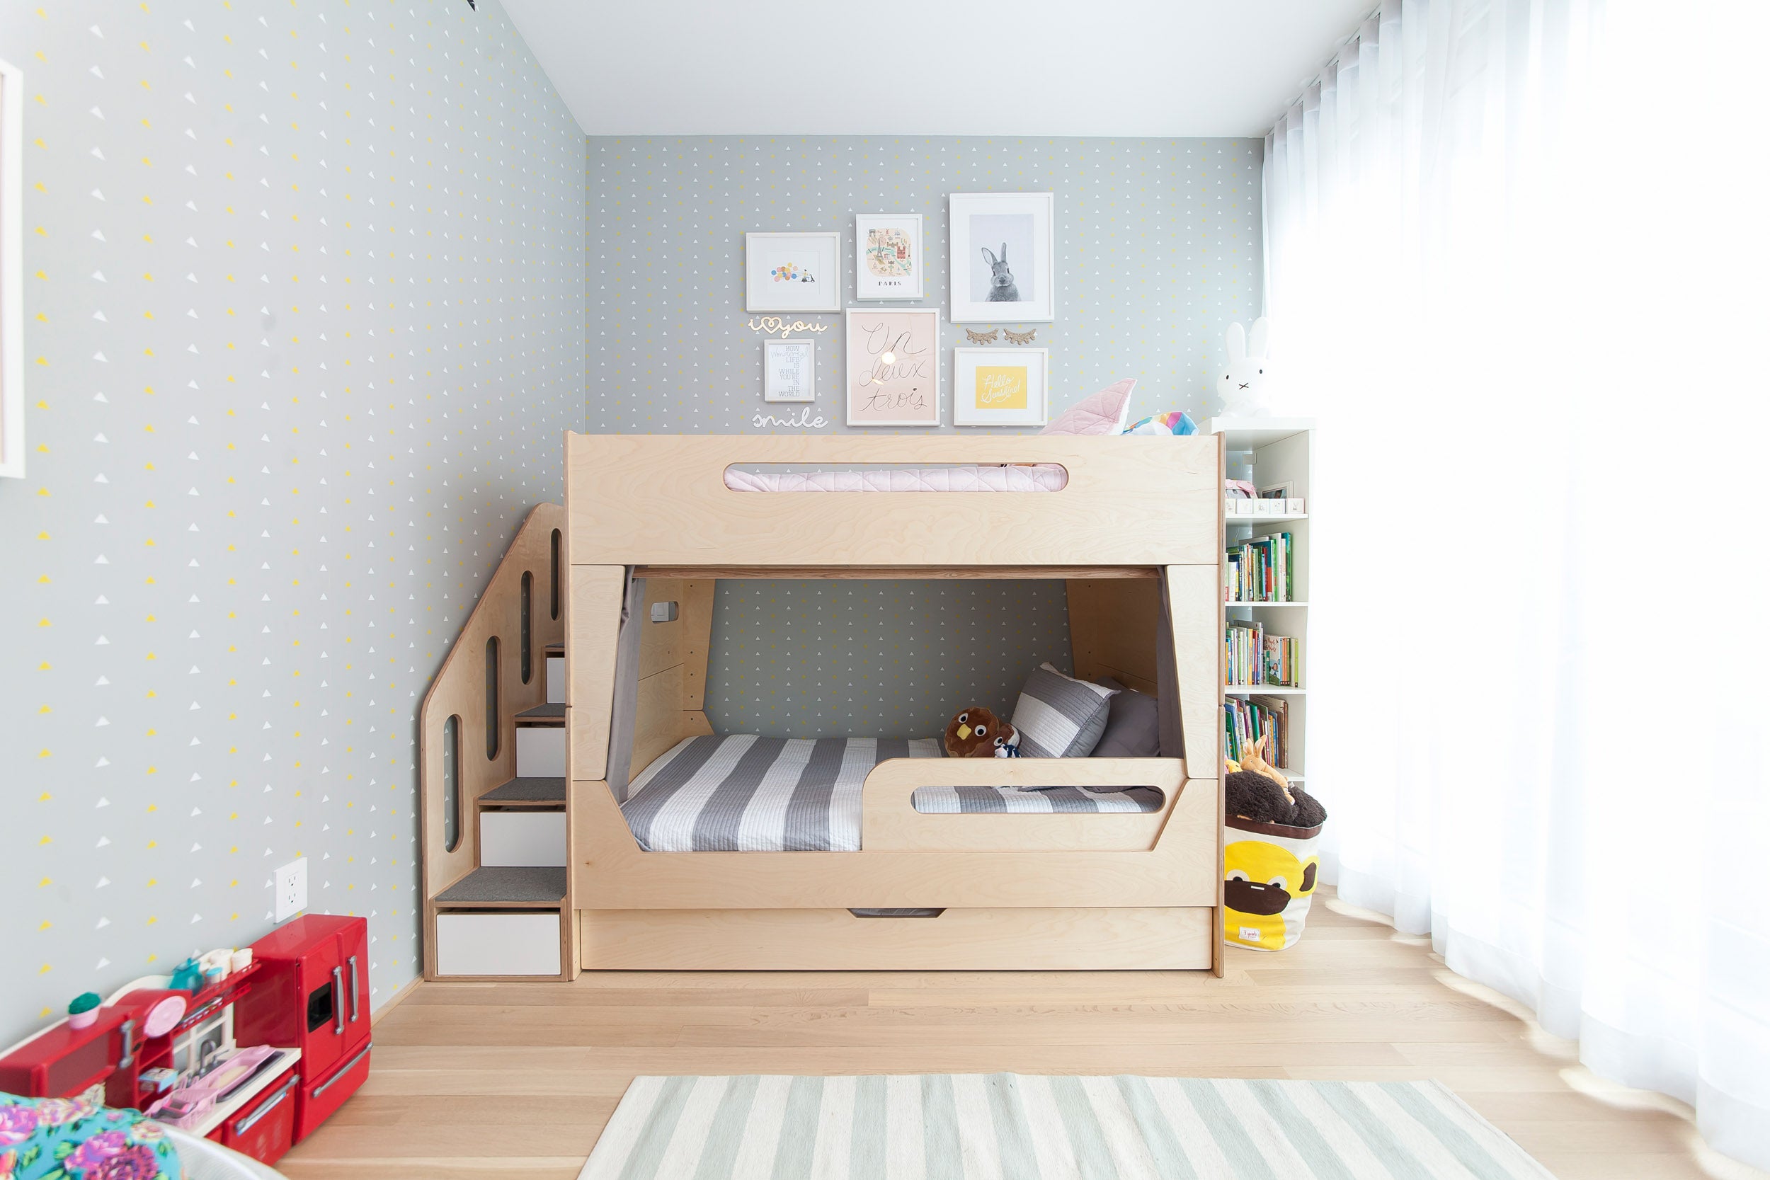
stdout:
{"type": "Polygon", "coordinates": [[[1303,938],[1320,872],[1322,824],[1289,828],[1230,816],[1223,824],[1223,941],[1283,950],[1303,938]]]}

